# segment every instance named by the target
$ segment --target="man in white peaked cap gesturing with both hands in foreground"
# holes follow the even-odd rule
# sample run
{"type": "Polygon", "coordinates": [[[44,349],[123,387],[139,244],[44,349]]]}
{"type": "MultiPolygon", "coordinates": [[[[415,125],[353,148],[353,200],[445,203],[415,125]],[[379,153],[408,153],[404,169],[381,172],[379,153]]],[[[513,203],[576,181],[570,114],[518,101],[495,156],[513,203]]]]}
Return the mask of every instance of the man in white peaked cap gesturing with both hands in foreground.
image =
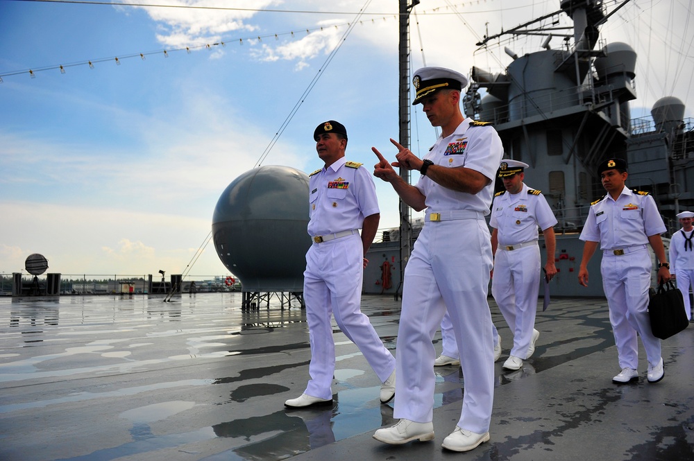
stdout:
{"type": "Polygon", "coordinates": [[[489,214],[493,180],[503,155],[501,139],[488,123],[466,119],[460,110],[467,78],[443,67],[414,73],[416,97],[441,136],[423,159],[398,141],[397,162],[376,148],[373,174],[390,182],[416,211],[426,209],[425,225],[407,261],[396,350],[396,397],[390,428],[373,437],[387,444],[432,440],[436,351],[432,338],[443,314],[450,313],[465,393],[457,426],[443,448],[468,451],[489,440],[494,393],[492,323],[487,287],[492,268],[489,214]],[[417,170],[408,184],[393,167],[417,170]]]}

